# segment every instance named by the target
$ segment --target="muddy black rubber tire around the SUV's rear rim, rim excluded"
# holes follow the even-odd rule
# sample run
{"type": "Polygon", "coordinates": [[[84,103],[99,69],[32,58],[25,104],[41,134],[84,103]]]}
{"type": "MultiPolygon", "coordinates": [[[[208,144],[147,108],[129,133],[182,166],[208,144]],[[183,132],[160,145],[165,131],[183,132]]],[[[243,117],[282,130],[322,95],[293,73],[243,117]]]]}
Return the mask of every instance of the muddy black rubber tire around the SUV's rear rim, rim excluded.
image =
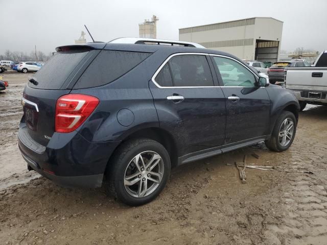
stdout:
{"type": "MultiPolygon", "coordinates": [[[[113,194],[115,198],[119,199],[127,205],[143,205],[156,198],[162,189],[164,189],[170,176],[170,169],[170,157],[162,144],[146,138],[132,139],[120,145],[110,159],[109,166],[106,170],[106,190],[108,193],[113,194]],[[158,183],[158,186],[154,189],[153,192],[146,195],[145,197],[133,197],[125,188],[125,173],[128,170],[127,167],[129,166],[130,162],[137,154],[148,151],[159,154],[162,159],[160,164],[163,164],[163,166],[161,166],[164,169],[164,174],[162,175],[161,181],[158,183]]],[[[139,179],[140,180],[137,183],[141,183],[141,178],[139,179]]],[[[146,180],[146,182],[149,183],[148,180],[146,180]]],[[[137,186],[139,187],[139,184],[137,186]]]]}

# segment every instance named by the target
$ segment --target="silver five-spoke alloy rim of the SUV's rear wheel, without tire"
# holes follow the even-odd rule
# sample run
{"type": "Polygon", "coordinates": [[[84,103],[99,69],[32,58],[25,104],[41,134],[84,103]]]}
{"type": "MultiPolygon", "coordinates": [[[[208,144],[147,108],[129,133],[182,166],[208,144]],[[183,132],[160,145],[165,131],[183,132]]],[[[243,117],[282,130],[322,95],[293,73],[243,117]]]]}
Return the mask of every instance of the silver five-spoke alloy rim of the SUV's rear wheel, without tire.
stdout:
{"type": "Polygon", "coordinates": [[[155,191],[164,176],[164,161],[153,151],[137,154],[127,165],[124,186],[134,198],[143,198],[155,191]]]}

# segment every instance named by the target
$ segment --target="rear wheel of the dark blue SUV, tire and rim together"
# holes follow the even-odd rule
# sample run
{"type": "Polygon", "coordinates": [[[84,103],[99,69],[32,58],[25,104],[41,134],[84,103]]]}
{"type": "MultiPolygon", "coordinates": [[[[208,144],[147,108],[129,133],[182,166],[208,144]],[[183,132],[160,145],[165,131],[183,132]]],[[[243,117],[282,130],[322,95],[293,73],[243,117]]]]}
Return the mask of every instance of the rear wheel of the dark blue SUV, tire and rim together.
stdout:
{"type": "Polygon", "coordinates": [[[107,190],[127,205],[152,201],[170,175],[170,157],[163,145],[151,139],[125,142],[107,169],[107,190]]]}

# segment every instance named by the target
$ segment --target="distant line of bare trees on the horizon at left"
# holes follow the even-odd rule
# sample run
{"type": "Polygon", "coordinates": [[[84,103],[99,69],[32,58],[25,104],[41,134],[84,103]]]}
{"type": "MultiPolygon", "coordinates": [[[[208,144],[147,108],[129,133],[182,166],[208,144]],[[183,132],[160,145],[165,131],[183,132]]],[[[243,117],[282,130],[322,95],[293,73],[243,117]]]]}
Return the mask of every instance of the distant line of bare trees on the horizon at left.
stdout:
{"type": "Polygon", "coordinates": [[[42,61],[45,62],[52,57],[52,53],[45,55],[42,51],[30,52],[28,55],[26,52],[6,50],[5,54],[0,54],[0,60],[12,60],[14,62],[24,62],[24,61],[42,61]]]}

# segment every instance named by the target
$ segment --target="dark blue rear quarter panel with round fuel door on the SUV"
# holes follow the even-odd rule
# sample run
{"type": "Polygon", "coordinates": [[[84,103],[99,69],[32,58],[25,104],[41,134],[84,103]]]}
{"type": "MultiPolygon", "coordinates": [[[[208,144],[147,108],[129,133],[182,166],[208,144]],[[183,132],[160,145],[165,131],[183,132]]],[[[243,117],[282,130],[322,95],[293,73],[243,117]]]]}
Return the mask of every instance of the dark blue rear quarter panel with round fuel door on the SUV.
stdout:
{"type": "Polygon", "coordinates": [[[153,62],[148,58],[107,85],[73,89],[71,93],[89,94],[100,100],[79,133],[89,141],[121,141],[137,130],[159,127],[148,86],[154,72],[152,66],[153,62]]]}

